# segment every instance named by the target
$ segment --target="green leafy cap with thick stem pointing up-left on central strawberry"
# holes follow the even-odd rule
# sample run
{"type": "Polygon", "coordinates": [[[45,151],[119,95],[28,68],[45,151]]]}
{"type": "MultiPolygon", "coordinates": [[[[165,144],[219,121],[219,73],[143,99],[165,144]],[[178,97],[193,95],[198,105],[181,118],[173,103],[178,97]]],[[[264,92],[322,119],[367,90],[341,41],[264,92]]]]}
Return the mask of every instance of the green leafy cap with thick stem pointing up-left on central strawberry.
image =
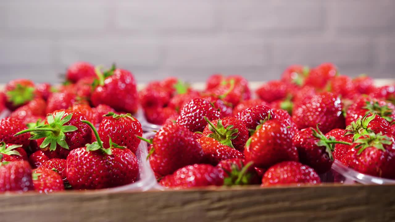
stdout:
{"type": "Polygon", "coordinates": [[[228,147],[235,148],[231,139],[235,139],[239,135],[239,129],[233,128],[233,125],[229,125],[225,128],[224,125],[222,125],[221,119],[218,119],[217,126],[214,126],[214,124],[209,119],[207,119],[207,117],[203,118],[209,124],[209,130],[212,132],[211,134],[207,135],[207,137],[213,138],[228,147]]]}

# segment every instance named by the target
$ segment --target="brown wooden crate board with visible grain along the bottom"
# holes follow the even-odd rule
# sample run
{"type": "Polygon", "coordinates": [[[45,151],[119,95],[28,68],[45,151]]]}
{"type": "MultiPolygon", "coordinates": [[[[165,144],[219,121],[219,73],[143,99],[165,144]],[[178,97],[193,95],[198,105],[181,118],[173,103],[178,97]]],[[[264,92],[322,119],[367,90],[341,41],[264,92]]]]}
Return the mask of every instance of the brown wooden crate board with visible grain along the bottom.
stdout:
{"type": "Polygon", "coordinates": [[[0,195],[0,221],[395,221],[394,185],[0,195]]]}

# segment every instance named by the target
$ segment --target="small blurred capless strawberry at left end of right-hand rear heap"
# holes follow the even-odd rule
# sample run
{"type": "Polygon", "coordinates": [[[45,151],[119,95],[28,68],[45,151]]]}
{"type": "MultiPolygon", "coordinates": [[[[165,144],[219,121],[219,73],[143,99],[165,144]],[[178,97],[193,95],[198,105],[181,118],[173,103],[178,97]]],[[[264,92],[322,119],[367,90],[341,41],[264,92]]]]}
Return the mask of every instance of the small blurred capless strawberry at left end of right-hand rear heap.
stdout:
{"type": "Polygon", "coordinates": [[[282,81],[273,80],[264,83],[261,87],[256,90],[258,97],[266,102],[273,102],[276,100],[282,100],[288,95],[290,85],[282,81]]]}

